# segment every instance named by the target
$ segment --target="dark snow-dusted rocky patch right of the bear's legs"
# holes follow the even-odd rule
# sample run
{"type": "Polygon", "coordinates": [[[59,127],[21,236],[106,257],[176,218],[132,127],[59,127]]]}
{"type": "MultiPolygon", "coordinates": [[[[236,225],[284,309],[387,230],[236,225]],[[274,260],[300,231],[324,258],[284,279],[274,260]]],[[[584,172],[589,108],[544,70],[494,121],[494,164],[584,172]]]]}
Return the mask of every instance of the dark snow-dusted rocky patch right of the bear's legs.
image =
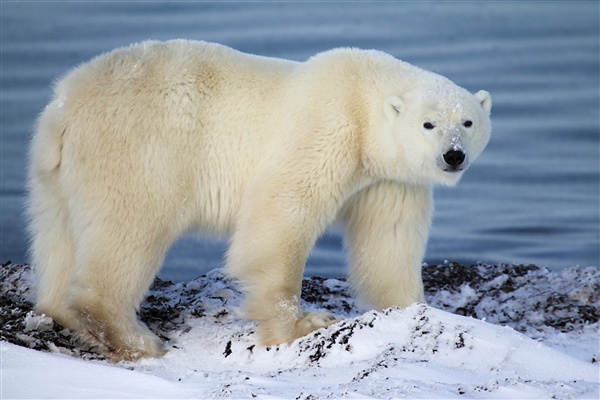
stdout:
{"type": "Polygon", "coordinates": [[[572,332],[600,319],[598,268],[558,273],[534,265],[448,263],[423,270],[428,303],[528,333],[572,332]]]}

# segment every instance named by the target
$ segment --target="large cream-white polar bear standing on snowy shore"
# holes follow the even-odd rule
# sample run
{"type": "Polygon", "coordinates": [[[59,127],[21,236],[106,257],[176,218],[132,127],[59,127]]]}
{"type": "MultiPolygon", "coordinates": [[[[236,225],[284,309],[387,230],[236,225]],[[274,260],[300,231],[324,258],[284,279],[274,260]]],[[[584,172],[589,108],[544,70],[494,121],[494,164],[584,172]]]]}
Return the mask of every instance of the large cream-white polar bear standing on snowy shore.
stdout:
{"type": "Polygon", "coordinates": [[[379,51],[294,62],[144,42],[59,81],[30,150],[36,307],[115,361],[164,354],[136,315],[190,230],[231,234],[226,270],[261,343],[336,319],[303,313],[305,260],[332,222],[373,307],[423,302],[432,185],[482,152],[491,99],[379,51]]]}

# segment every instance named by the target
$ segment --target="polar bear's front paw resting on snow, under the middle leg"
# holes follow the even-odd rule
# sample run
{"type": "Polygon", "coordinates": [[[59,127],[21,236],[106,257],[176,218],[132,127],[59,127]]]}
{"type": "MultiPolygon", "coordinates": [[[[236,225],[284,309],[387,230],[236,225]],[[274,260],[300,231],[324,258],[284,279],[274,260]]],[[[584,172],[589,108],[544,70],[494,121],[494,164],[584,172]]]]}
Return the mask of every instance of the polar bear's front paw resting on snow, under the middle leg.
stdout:
{"type": "Polygon", "coordinates": [[[325,312],[305,312],[303,317],[290,322],[263,321],[258,328],[261,344],[265,346],[289,343],[312,331],[326,328],[340,320],[325,312]]]}

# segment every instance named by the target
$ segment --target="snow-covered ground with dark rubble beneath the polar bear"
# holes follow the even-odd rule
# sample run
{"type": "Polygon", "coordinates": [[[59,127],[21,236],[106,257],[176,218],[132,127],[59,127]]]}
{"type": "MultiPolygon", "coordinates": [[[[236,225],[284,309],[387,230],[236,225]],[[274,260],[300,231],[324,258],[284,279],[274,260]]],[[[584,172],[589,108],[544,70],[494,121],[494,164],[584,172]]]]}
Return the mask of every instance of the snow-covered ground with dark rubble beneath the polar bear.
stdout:
{"type": "Polygon", "coordinates": [[[305,279],[305,309],[344,319],[277,347],[256,345],[222,270],[157,281],[141,315],[169,352],[119,364],[29,310],[28,267],[0,271],[2,398],[599,397],[598,268],[425,266],[429,305],[383,312],[305,279]]]}

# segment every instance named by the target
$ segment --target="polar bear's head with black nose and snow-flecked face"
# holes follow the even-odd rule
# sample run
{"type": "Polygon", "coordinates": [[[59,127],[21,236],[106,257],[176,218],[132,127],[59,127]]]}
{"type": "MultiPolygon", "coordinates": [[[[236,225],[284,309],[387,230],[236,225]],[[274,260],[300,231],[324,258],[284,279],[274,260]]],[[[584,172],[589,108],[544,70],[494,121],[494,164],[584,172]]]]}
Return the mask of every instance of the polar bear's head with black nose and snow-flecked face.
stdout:
{"type": "Polygon", "coordinates": [[[414,89],[384,102],[384,136],[400,160],[397,178],[454,185],[481,154],[491,132],[492,100],[453,84],[414,89]],[[408,174],[408,175],[407,175],[408,174]]]}

